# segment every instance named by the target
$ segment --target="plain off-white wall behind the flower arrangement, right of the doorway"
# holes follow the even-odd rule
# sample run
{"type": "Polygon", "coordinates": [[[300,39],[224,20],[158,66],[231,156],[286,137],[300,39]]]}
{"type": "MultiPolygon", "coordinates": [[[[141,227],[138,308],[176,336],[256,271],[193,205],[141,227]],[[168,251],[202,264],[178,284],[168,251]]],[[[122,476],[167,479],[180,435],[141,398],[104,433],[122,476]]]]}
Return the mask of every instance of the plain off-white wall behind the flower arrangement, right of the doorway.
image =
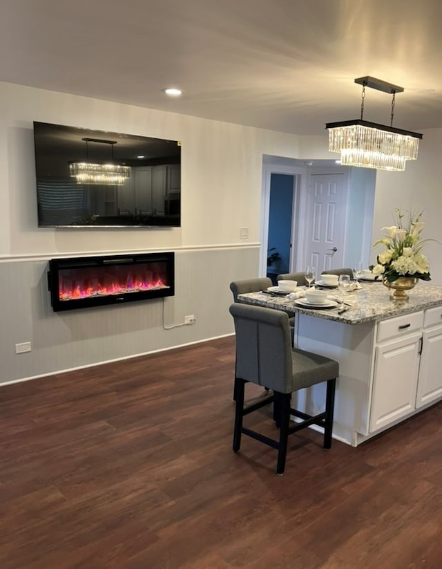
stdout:
{"type": "MultiPolygon", "coordinates": [[[[442,129],[421,131],[419,158],[407,162],[403,172],[379,170],[376,176],[376,195],[372,243],[383,236],[382,227],[393,225],[395,207],[411,212],[423,210],[425,230],[423,238],[436,239],[428,243],[425,254],[430,259],[430,273],[434,284],[442,284],[442,129]]],[[[376,251],[372,249],[372,262],[376,251]]]]}

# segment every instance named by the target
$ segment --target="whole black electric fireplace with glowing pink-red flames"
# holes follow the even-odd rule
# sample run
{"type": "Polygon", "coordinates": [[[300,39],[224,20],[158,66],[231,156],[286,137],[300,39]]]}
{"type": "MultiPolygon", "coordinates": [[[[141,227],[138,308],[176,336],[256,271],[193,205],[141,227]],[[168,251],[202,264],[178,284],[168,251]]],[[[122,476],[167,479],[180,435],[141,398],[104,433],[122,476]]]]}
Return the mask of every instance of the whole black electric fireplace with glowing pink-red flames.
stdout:
{"type": "Polygon", "coordinates": [[[48,288],[55,312],[171,297],[175,256],[166,252],[51,259],[48,288]]]}

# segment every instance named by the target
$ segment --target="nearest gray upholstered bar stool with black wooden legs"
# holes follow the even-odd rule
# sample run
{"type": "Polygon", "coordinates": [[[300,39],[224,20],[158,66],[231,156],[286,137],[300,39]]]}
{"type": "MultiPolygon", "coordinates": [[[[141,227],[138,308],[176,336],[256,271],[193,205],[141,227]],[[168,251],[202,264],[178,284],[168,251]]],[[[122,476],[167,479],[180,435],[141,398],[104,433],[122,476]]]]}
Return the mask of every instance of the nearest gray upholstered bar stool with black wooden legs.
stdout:
{"type": "Polygon", "coordinates": [[[339,364],[329,357],[293,348],[289,317],[282,310],[248,304],[232,304],[229,310],[236,331],[236,412],[233,451],[240,450],[242,434],[264,442],[278,450],[276,473],[282,474],[289,434],[305,429],[309,425],[320,425],[324,427],[324,448],[331,447],[334,392],[339,364]],[[244,385],[247,382],[268,386],[273,393],[244,407],[244,385]],[[291,409],[291,394],[294,391],[322,382],[327,382],[323,413],[310,416],[291,409]],[[274,406],[273,418],[276,419],[276,427],[280,428],[278,440],[242,425],[245,415],[271,402],[274,406]],[[290,415],[302,421],[290,425],[290,415]]]}

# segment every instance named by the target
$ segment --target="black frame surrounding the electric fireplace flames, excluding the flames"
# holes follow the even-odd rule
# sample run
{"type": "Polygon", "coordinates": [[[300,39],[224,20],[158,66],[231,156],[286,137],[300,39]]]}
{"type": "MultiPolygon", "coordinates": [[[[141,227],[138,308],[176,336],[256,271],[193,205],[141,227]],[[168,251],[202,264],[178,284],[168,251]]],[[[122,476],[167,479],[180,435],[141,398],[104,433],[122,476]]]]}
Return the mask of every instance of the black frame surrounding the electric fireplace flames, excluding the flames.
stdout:
{"type": "Polygon", "coordinates": [[[175,295],[175,254],[174,252],[124,254],[111,256],[86,256],[50,259],[48,270],[48,290],[50,291],[50,304],[54,312],[61,310],[74,310],[77,308],[90,308],[124,304],[126,302],[173,297],[175,295]],[[136,292],[119,292],[102,296],[84,297],[79,299],[62,300],[60,298],[60,274],[64,270],[97,270],[97,274],[115,266],[128,266],[136,268],[137,265],[148,263],[164,263],[166,285],[136,292]]]}

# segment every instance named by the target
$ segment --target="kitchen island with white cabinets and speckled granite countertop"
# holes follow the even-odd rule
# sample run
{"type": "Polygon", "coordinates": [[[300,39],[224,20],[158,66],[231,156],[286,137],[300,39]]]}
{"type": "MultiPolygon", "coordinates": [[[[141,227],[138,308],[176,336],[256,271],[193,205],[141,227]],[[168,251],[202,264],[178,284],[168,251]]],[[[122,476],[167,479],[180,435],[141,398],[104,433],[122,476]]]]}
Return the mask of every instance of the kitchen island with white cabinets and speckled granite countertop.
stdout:
{"type": "MultiPolygon", "coordinates": [[[[265,292],[238,301],[296,313],[295,346],[339,362],[333,436],[356,447],[442,399],[442,286],[419,281],[408,294],[394,301],[381,282],[363,283],[343,314],[265,292]]],[[[295,397],[298,409],[318,413],[324,386],[295,397]]]]}

